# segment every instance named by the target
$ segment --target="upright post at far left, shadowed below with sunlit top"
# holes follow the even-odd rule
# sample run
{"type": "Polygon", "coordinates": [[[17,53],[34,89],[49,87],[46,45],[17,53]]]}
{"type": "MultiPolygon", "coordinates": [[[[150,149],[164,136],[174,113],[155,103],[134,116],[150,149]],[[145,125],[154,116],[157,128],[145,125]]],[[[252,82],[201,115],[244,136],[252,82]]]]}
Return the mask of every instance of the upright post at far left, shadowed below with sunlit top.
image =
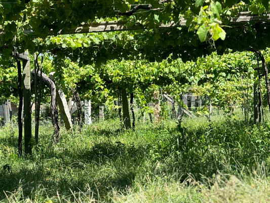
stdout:
{"type": "Polygon", "coordinates": [[[32,153],[31,138],[31,84],[30,60],[23,60],[23,117],[24,117],[24,152],[32,153]]]}

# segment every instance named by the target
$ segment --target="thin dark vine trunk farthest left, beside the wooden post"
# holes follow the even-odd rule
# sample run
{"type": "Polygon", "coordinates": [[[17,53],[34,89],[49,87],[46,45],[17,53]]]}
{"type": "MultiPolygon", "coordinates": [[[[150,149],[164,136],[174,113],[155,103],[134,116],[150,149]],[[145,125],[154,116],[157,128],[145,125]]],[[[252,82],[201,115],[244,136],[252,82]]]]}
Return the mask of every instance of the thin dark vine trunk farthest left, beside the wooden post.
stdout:
{"type": "Polygon", "coordinates": [[[19,95],[19,109],[18,109],[18,153],[22,155],[22,103],[23,103],[23,93],[22,93],[22,67],[21,61],[16,59],[18,66],[18,95],[19,95]]]}

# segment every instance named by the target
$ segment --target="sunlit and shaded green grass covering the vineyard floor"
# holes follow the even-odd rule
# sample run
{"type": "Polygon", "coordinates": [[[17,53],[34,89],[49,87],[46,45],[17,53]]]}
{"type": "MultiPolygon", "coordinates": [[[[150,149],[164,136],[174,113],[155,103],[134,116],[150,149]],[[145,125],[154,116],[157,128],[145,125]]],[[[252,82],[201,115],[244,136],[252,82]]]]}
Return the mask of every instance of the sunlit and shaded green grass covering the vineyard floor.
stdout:
{"type": "Polygon", "coordinates": [[[0,129],[0,202],[270,202],[270,129],[215,116],[121,131],[118,121],[66,132],[17,156],[16,127],[0,129]]]}

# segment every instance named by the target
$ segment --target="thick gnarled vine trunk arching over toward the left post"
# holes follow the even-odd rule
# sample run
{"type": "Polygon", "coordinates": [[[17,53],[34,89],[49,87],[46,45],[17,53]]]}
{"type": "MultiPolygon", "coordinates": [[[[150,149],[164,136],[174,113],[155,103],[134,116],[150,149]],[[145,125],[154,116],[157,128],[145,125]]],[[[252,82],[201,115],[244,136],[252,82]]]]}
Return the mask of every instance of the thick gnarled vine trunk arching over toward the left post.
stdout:
{"type": "MultiPolygon", "coordinates": [[[[34,78],[34,71],[32,71],[31,76],[32,78],[34,78]]],[[[51,90],[51,118],[54,128],[55,144],[57,144],[60,139],[60,124],[58,119],[58,109],[56,101],[56,87],[54,82],[44,73],[42,73],[41,77],[40,71],[37,72],[36,79],[37,81],[41,81],[42,85],[49,87],[49,89],[51,90]]]]}

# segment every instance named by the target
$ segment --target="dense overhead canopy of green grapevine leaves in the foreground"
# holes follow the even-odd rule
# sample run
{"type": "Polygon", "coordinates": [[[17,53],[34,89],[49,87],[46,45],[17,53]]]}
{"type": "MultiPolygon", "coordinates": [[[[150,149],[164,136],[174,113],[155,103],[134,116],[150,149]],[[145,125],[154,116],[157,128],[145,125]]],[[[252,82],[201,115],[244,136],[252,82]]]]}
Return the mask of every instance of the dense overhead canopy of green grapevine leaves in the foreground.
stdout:
{"type": "Polygon", "coordinates": [[[3,0],[0,46],[4,55],[16,46],[21,52],[51,51],[58,59],[69,57],[80,63],[101,63],[114,58],[160,61],[169,56],[168,60],[191,60],[213,50],[223,53],[227,48],[242,51],[269,47],[268,21],[230,22],[243,11],[263,16],[269,13],[269,2],[3,0]],[[149,29],[57,36],[83,24],[112,20],[149,29]],[[172,21],[185,21],[185,26],[155,28],[172,21]]]}

